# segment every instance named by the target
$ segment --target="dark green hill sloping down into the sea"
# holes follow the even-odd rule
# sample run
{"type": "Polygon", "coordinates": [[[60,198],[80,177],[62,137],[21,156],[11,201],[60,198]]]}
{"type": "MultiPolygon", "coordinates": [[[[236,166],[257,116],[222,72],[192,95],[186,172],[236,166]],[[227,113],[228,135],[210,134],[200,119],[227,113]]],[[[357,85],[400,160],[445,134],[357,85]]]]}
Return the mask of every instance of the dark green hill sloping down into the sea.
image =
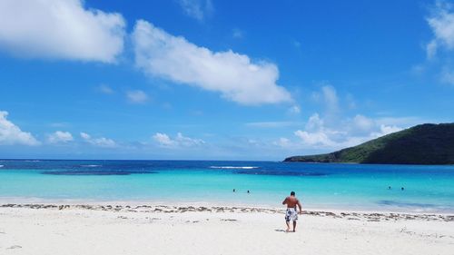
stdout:
{"type": "Polygon", "coordinates": [[[284,162],[454,164],[454,123],[421,124],[341,151],[284,162]]]}

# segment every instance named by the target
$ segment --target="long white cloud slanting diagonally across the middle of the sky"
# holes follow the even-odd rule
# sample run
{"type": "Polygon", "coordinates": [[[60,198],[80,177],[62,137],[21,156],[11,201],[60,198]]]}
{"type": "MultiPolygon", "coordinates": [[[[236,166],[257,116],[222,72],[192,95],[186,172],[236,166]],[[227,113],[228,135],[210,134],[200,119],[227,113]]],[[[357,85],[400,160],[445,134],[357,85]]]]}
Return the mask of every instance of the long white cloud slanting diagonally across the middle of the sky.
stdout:
{"type": "Polygon", "coordinates": [[[146,74],[219,92],[242,104],[291,101],[290,93],[276,83],[275,64],[252,62],[232,51],[212,52],[143,20],[135,25],[133,47],[135,64],[146,74]]]}

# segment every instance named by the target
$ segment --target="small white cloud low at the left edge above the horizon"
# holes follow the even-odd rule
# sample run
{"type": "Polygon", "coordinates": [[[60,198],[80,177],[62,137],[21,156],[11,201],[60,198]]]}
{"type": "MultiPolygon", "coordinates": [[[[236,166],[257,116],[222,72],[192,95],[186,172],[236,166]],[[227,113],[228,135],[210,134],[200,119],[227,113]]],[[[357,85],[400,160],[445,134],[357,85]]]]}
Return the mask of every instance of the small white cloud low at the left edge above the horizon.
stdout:
{"type": "Polygon", "coordinates": [[[0,145],[38,145],[30,132],[23,132],[15,123],[7,120],[8,112],[0,111],[0,145]]]}

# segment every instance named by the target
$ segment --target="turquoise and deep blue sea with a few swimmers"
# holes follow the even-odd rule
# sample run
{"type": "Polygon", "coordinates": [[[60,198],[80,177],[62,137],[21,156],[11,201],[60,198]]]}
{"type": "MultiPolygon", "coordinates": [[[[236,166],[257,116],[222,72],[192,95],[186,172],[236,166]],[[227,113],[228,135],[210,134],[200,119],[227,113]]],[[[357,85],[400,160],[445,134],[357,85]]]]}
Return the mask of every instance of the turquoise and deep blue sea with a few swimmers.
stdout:
{"type": "Polygon", "coordinates": [[[454,212],[454,166],[0,160],[0,201],[279,207],[290,191],[308,209],[454,212]]]}

